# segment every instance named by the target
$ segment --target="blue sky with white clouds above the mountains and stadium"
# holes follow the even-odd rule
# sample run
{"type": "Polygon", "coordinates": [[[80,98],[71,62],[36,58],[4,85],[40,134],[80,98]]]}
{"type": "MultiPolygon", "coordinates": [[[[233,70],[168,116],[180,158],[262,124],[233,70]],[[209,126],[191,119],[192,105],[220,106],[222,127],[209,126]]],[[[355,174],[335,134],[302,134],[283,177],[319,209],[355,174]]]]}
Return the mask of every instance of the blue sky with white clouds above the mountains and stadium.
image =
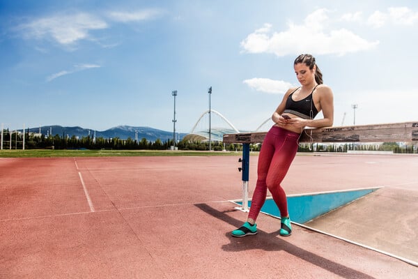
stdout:
{"type": "Polygon", "coordinates": [[[417,121],[417,40],[416,1],[0,0],[0,123],[173,130],[177,90],[189,133],[212,86],[212,109],[255,130],[302,53],[334,91],[334,126],[353,104],[356,124],[417,121]]]}

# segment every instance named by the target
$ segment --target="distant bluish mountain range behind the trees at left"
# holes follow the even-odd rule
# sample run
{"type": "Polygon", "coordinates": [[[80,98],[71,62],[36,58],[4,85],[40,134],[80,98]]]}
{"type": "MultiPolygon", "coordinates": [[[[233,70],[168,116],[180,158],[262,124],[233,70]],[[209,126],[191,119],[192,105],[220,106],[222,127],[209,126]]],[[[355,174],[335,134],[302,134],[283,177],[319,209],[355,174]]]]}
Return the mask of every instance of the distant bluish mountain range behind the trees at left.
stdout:
{"type": "MultiPolygon", "coordinates": [[[[130,137],[132,140],[135,140],[135,133],[138,133],[138,140],[140,141],[143,138],[146,138],[146,140],[154,142],[157,139],[162,140],[162,142],[167,140],[173,140],[173,132],[168,132],[164,130],[158,130],[155,128],[150,127],[133,127],[133,126],[117,126],[114,128],[110,128],[108,130],[104,131],[98,131],[98,130],[92,130],[92,129],[86,129],[81,127],[63,127],[63,126],[42,126],[38,128],[29,128],[29,131],[31,133],[42,133],[43,135],[59,135],[60,137],[72,137],[73,135],[76,137],[79,137],[80,139],[82,137],[87,137],[90,135],[90,137],[103,137],[105,139],[118,137],[121,140],[127,140],[128,137],[130,137]]],[[[177,140],[182,140],[186,133],[176,133],[177,140]]]]}

